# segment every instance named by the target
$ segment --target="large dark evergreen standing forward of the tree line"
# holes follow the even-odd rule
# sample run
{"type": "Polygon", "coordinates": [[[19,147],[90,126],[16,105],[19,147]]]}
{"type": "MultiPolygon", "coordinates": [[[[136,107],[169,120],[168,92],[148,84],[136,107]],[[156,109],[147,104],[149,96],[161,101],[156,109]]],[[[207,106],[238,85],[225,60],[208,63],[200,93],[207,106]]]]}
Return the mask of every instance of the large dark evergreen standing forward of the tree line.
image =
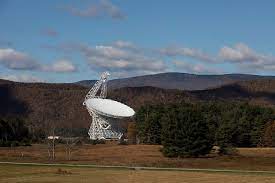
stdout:
{"type": "Polygon", "coordinates": [[[173,106],[162,118],[162,152],[168,157],[197,157],[212,149],[212,139],[204,117],[192,106],[173,106]]]}

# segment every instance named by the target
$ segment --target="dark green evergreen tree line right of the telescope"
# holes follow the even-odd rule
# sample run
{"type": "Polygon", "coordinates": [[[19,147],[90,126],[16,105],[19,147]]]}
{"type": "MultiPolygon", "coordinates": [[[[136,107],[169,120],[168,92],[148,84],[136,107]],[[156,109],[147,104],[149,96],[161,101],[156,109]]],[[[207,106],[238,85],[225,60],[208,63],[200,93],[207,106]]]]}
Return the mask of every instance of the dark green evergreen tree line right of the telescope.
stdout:
{"type": "Polygon", "coordinates": [[[213,145],[221,153],[228,147],[259,146],[272,121],[273,109],[241,102],[146,105],[136,114],[140,142],[162,144],[167,156],[199,156],[213,145]]]}

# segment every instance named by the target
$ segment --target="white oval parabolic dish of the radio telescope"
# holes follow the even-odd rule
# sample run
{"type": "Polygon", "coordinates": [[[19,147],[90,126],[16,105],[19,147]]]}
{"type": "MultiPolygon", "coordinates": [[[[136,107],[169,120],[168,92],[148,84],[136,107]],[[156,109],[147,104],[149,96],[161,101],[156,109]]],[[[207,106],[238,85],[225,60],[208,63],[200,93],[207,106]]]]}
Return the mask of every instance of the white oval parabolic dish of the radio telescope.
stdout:
{"type": "Polygon", "coordinates": [[[108,117],[124,118],[135,114],[131,107],[115,100],[91,98],[86,100],[85,103],[89,110],[108,117]]]}

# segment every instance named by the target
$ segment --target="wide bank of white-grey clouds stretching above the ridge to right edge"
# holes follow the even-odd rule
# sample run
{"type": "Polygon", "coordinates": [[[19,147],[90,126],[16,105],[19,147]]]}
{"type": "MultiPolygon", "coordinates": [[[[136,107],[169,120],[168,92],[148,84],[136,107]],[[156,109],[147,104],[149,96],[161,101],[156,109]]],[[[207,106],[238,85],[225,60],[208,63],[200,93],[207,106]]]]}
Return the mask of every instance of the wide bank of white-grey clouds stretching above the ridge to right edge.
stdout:
{"type": "Polygon", "coordinates": [[[226,68],[221,71],[217,69],[224,68],[225,64],[226,67],[230,66],[230,69],[236,67],[234,72],[239,71],[241,73],[275,71],[274,56],[256,52],[244,43],[238,43],[234,46],[225,45],[213,55],[200,49],[188,47],[166,47],[155,51],[155,49],[144,49],[124,40],[103,45],[71,42],[48,46],[47,48],[63,51],[66,54],[80,53],[84,56],[91,70],[95,72],[109,70],[119,77],[154,74],[171,70],[218,74],[226,71],[226,68]],[[186,57],[195,60],[192,59],[192,62],[189,63],[181,61],[185,60],[186,57]],[[167,60],[164,61],[164,59],[167,60]],[[175,59],[177,60],[173,61],[175,59]]]}

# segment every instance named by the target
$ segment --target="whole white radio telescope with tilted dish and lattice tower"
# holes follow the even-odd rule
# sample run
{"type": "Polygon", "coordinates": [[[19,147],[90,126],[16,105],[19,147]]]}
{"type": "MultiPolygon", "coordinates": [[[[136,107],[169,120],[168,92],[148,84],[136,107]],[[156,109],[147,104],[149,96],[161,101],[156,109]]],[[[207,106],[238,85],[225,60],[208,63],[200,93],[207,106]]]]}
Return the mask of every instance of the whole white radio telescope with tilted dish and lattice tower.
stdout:
{"type": "Polygon", "coordinates": [[[90,139],[120,139],[122,133],[117,126],[117,119],[132,117],[135,111],[120,102],[106,99],[107,79],[110,74],[103,72],[94,86],[87,93],[83,105],[86,106],[92,123],[89,129],[90,139]],[[96,96],[101,89],[99,96],[96,96]]]}

